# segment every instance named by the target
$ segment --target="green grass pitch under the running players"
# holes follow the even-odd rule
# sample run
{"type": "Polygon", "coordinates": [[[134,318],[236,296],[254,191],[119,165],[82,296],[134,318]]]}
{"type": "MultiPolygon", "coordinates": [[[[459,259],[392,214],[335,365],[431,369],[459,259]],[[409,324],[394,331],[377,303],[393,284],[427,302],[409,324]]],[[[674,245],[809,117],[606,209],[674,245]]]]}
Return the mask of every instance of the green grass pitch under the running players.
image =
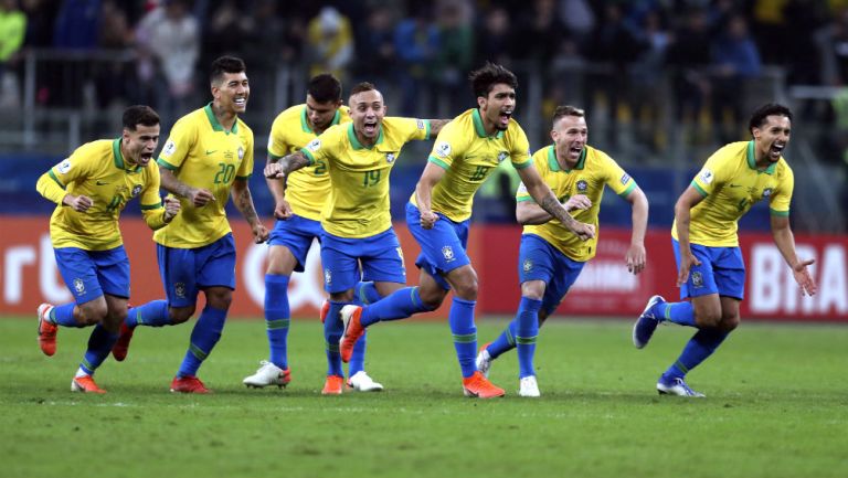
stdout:
{"type": "MultiPolygon", "coordinates": [[[[491,340],[506,325],[480,320],[491,340]]],[[[193,322],[192,322],[193,325],[193,322]]],[[[689,383],[706,400],[658,396],[657,376],[691,329],[645,350],[630,322],[558,321],[539,339],[542,397],[520,399],[515,353],[491,379],[507,397],[462,394],[444,322],[374,327],[382,393],[319,394],[319,325],[293,322],[293,383],[247,390],[267,354],[264,323],[232,320],[200,371],[215,393],[168,385],[190,326],[139,328],[106,395],[70,392],[87,330],[41,354],[35,320],[0,319],[0,458],[8,477],[846,477],[848,327],[744,323],[689,383]]]]}

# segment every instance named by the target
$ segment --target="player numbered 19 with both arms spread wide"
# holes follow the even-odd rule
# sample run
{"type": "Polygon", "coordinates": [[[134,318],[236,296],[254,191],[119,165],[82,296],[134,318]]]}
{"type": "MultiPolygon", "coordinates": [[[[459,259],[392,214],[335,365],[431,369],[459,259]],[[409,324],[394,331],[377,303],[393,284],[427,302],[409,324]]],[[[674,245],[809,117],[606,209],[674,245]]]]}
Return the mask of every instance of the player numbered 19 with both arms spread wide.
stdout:
{"type": "MultiPolygon", "coordinates": [[[[339,312],[353,302],[360,278],[373,282],[381,297],[406,283],[401,244],[389,210],[392,167],[403,145],[428,139],[447,123],[386,117],[383,95],[370,83],[354,86],[348,105],[350,124],[328,128],[300,151],[265,167],[266,178],[288,179],[292,171],[314,164],[326,164],[330,174],[330,193],[321,213],[321,264],[325,289],[330,295],[325,320],[329,363],[321,391],[325,395],[342,391],[339,339],[343,330],[339,312]]],[[[421,301],[413,305],[411,299],[404,304],[421,307],[421,301]]],[[[344,361],[351,352],[352,348],[344,361]]]]}

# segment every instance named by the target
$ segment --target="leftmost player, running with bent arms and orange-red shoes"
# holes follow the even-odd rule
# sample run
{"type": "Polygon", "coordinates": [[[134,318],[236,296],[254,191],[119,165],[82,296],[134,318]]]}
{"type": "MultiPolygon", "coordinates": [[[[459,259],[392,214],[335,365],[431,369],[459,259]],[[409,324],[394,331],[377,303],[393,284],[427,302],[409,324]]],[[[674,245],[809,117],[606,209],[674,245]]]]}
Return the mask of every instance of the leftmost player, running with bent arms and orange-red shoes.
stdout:
{"type": "Polygon", "coordinates": [[[56,265],[74,302],[39,306],[39,344],[56,352],[57,326],[95,326],[71,381],[72,392],[106,393],[94,372],[108,357],[127,317],[129,259],[118,229],[120,211],[140,198],[150,229],[170,223],[180,203],[159,198],[159,170],[150,163],[159,144],[159,115],[142,105],[124,110],[117,139],[92,141],[39,178],[39,193],[59,204],[50,219],[56,265]]]}

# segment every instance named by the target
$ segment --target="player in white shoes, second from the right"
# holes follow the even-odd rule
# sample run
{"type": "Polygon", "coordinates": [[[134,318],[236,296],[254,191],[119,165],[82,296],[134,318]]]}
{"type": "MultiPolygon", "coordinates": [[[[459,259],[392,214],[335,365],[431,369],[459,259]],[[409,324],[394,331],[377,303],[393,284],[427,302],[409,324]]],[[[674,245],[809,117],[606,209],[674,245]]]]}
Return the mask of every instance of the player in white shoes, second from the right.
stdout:
{"type": "MultiPolygon", "coordinates": [[[[533,163],[565,208],[576,211],[574,219],[593,224],[596,231],[605,185],[632,204],[633,231],[624,259],[627,269],[638,274],[645,268],[648,200],[613,158],[586,144],[587,137],[583,110],[560,106],[553,113],[553,145],[537,151],[533,163]]],[[[534,397],[540,395],[533,369],[539,328],[569,293],[586,262],[595,256],[597,237],[583,242],[562,223],[551,221],[553,216],[533,201],[523,184],[516,201],[516,217],[524,225],[518,258],[521,304],[504,333],[477,354],[477,369],[488,376],[491,362],[517,348],[518,394],[534,397]]]]}

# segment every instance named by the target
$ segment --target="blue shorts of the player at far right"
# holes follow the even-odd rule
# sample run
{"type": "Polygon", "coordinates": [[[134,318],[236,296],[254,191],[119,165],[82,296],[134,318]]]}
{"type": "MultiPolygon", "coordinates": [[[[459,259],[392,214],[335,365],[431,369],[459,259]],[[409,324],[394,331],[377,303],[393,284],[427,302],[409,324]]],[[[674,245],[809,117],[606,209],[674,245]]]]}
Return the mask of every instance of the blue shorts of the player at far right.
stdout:
{"type": "MultiPolygon", "coordinates": [[[[675,247],[677,269],[680,270],[680,244],[671,238],[675,247]]],[[[692,254],[701,262],[692,266],[689,279],[680,287],[680,298],[700,297],[709,294],[733,297],[742,300],[745,295],[745,263],[739,247],[710,247],[690,244],[692,254]]]]}

